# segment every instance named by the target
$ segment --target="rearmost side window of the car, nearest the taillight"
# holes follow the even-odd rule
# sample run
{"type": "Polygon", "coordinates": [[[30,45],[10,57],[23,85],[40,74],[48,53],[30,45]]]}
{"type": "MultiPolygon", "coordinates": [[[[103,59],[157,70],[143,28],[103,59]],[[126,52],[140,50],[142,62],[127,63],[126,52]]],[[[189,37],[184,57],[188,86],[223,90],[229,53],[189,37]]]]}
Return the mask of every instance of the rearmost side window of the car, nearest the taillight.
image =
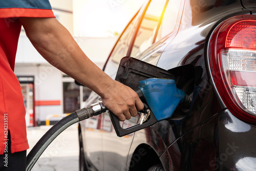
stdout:
{"type": "Polygon", "coordinates": [[[181,2],[180,0],[169,0],[161,20],[156,41],[174,31],[181,2]]]}

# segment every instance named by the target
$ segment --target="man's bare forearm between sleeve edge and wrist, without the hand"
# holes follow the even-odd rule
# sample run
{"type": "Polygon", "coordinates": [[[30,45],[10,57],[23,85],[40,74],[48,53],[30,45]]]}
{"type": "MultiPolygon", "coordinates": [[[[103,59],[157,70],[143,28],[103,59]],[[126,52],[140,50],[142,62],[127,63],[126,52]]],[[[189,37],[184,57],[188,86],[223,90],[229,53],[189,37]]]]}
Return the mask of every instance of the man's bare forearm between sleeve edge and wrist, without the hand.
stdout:
{"type": "Polygon", "coordinates": [[[20,18],[36,50],[54,67],[86,85],[100,96],[112,79],[79,48],[76,41],[55,18],[20,18]]]}

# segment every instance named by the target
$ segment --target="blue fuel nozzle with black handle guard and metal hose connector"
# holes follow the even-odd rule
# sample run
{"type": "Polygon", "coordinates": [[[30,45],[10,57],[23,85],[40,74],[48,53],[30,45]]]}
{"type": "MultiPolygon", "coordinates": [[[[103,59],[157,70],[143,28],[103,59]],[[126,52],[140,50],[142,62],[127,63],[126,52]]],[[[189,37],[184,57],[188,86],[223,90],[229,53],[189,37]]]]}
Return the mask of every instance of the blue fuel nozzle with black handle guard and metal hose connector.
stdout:
{"type": "MultiPolygon", "coordinates": [[[[190,104],[191,102],[190,96],[186,95],[184,91],[177,89],[175,80],[154,78],[146,79],[141,82],[147,84],[145,84],[146,86],[143,85],[142,88],[139,87],[138,89],[135,89],[135,92],[144,104],[144,109],[138,111],[145,116],[141,120],[140,124],[123,129],[120,125],[119,118],[110,111],[110,118],[119,137],[131,134],[145,127],[151,126],[158,121],[167,119],[172,116],[179,103],[190,104]]],[[[108,109],[105,107],[103,102],[99,101],[91,104],[88,108],[76,111],[76,114],[79,121],[81,121],[106,112],[106,110],[108,109]]]]}

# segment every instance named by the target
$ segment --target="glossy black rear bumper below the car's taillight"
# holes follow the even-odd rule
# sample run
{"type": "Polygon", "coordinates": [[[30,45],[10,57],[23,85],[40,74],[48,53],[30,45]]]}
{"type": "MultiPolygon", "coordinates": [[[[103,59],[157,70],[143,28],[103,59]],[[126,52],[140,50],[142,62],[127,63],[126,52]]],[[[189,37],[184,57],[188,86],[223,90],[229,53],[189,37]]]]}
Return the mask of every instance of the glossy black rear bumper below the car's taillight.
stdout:
{"type": "Polygon", "coordinates": [[[160,159],[172,161],[166,170],[255,170],[255,129],[223,109],[177,139],[160,159]],[[250,142],[241,141],[248,137],[250,142]]]}

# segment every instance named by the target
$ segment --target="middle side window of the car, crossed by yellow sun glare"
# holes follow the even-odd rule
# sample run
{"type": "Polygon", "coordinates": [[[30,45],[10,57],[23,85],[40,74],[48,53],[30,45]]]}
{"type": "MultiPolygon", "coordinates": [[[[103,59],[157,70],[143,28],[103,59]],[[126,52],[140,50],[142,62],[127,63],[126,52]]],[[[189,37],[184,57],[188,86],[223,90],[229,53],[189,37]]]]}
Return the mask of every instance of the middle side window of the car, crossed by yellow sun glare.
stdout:
{"type": "Polygon", "coordinates": [[[153,0],[142,19],[131,56],[136,57],[153,44],[155,32],[161,18],[166,0],[153,0]]]}

